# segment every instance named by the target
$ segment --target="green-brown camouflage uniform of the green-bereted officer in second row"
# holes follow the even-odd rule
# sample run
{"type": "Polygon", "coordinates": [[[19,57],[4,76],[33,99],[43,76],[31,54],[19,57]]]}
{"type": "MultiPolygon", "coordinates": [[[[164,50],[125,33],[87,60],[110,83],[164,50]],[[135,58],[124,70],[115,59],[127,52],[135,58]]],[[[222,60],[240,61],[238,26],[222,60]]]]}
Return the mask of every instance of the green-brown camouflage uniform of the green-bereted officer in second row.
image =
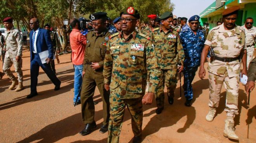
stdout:
{"type": "Polygon", "coordinates": [[[170,29],[164,33],[161,28],[154,29],[153,42],[155,45],[158,65],[161,69],[159,85],[156,93],[157,108],[164,106],[164,83],[167,86],[167,94],[174,97],[174,91],[177,84],[177,64],[183,65],[184,52],[178,32],[170,29]]]}

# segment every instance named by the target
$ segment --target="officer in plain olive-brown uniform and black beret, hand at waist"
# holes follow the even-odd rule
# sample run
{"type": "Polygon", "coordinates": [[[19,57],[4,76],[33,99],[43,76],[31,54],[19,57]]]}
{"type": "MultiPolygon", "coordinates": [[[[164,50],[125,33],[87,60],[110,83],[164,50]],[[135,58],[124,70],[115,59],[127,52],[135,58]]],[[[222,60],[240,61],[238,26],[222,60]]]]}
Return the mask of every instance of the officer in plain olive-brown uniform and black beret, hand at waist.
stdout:
{"type": "Polygon", "coordinates": [[[96,12],[89,16],[92,20],[93,30],[89,30],[86,35],[85,58],[83,62],[83,83],[81,89],[81,110],[85,128],[80,132],[87,135],[96,127],[94,121],[93,95],[95,87],[100,91],[103,102],[103,125],[100,133],[107,131],[109,123],[109,91],[104,89],[103,64],[109,41],[110,33],[106,29],[106,12],[96,12]]]}

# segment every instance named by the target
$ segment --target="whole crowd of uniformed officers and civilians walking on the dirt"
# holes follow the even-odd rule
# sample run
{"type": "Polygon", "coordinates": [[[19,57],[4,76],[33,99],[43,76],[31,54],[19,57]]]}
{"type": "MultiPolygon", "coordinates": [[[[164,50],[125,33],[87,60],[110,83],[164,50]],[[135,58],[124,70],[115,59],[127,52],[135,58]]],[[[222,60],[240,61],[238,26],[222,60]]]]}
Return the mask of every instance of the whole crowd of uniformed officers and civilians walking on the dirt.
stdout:
{"type": "MultiPolygon", "coordinates": [[[[108,131],[108,142],[118,143],[127,107],[131,114],[133,142],[141,142],[142,105],[151,104],[155,97],[156,114],[161,114],[164,86],[167,87],[168,103],[173,104],[177,75],[183,72],[185,106],[190,107],[195,72],[199,67],[199,77],[205,77],[204,62],[207,58],[210,85],[206,120],[211,122],[216,116],[224,83],[227,119],[223,135],[239,140],[234,130],[234,117],[239,113],[239,76],[248,76],[246,93],[252,91],[256,79],[256,59],[253,59],[256,29],[252,18],[247,18],[242,27],[235,25],[238,10],[239,7],[224,10],[222,22],[217,22],[211,30],[208,23],[201,26],[198,15],[187,19],[171,12],[164,12],[160,17],[148,15],[148,24],[140,24],[140,13],[133,7],[120,12],[113,25],[105,12],[90,14],[89,22],[71,19],[69,41],[74,65],[73,104],[81,104],[85,124],[80,134],[87,135],[96,128],[93,95],[97,86],[103,102],[104,121],[100,133],[108,131]]],[[[1,47],[5,51],[3,71],[12,81],[9,89],[18,85],[15,91],[21,91],[24,88],[22,35],[14,29],[11,17],[3,19],[3,24],[6,28],[5,38],[0,35],[1,47]],[[12,64],[18,80],[10,71],[12,64]]],[[[49,30],[48,24],[44,29],[40,28],[37,18],[32,18],[29,25],[31,93],[27,98],[33,98],[38,95],[39,67],[54,83],[54,90],[60,89],[61,81],[54,68],[54,55],[57,59],[59,53],[56,33],[49,30]],[[42,53],[46,53],[44,59],[42,53]]],[[[2,79],[2,72],[0,76],[2,79]]]]}

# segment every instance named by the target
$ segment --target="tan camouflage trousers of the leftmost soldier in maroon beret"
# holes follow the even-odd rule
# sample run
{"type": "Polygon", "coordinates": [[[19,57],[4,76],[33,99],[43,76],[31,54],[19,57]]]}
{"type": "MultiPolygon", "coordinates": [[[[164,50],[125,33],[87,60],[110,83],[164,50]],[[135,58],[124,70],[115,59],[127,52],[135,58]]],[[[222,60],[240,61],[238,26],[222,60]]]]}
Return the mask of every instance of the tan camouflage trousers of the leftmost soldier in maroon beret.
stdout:
{"type": "Polygon", "coordinates": [[[18,81],[22,82],[23,81],[23,72],[21,70],[22,59],[20,59],[19,62],[17,62],[15,58],[5,57],[3,62],[3,72],[7,76],[9,76],[10,80],[13,81],[15,79],[15,76],[10,71],[10,67],[12,66],[12,64],[14,65],[15,72],[17,72],[18,81]]]}

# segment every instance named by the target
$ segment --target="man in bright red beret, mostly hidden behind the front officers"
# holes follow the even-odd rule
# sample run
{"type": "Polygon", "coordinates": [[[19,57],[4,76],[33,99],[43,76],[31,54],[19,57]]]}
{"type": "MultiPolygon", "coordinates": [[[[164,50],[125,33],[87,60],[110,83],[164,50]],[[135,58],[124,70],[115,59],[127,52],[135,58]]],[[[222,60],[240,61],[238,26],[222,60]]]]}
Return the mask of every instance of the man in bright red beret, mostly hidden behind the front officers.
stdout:
{"type": "Polygon", "coordinates": [[[145,34],[147,37],[152,38],[152,32],[154,31],[155,28],[157,28],[158,26],[155,25],[155,19],[157,18],[157,16],[155,14],[151,14],[147,16],[149,18],[149,25],[144,27],[141,30],[142,34],[145,34]]]}

